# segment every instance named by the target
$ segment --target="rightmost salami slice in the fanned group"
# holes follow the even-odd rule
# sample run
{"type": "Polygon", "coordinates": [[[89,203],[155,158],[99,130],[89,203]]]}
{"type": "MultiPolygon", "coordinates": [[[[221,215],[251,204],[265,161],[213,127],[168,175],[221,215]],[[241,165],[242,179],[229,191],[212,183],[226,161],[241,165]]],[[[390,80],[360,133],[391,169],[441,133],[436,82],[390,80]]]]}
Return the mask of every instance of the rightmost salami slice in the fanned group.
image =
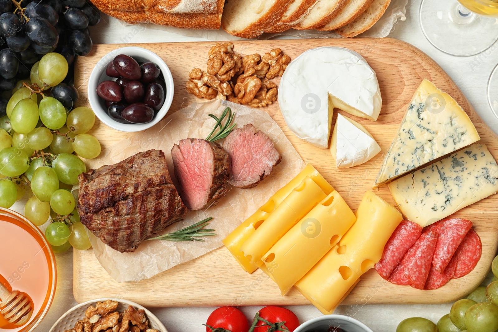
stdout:
{"type": "Polygon", "coordinates": [[[453,279],[463,277],[474,270],[481,258],[482,247],[479,235],[471,228],[455,252],[454,256],[457,261],[457,268],[453,279]]]}

